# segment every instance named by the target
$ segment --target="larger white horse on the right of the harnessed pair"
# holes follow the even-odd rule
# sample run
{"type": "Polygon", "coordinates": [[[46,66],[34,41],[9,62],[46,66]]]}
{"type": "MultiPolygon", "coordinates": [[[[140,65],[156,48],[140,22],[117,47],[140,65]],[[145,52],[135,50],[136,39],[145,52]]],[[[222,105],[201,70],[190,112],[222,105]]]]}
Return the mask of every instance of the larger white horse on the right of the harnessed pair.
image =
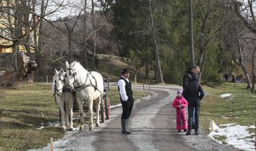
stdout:
{"type": "Polygon", "coordinates": [[[93,106],[96,110],[96,127],[100,125],[99,110],[100,99],[104,90],[103,78],[96,71],[88,72],[79,62],[72,62],[70,65],[66,61],[66,84],[76,93],[76,101],[79,104],[80,131],[83,131],[83,101],[89,107],[89,131],[94,130],[93,106]]]}

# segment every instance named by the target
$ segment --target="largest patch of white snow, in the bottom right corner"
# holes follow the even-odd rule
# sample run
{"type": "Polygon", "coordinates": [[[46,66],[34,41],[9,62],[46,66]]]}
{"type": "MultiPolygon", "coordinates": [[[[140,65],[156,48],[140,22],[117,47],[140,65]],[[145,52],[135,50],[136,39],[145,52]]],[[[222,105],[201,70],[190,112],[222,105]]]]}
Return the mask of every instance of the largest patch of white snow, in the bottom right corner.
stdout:
{"type": "MultiPolygon", "coordinates": [[[[226,137],[225,143],[229,144],[230,146],[233,146],[234,148],[238,148],[240,150],[248,150],[248,151],[254,151],[254,141],[255,137],[252,138],[252,136],[255,136],[255,133],[249,133],[248,129],[255,129],[255,126],[240,126],[236,123],[231,124],[223,124],[218,127],[217,125],[214,125],[214,131],[210,132],[208,135],[212,139],[218,136],[226,137]],[[223,129],[220,127],[224,127],[223,129]]],[[[214,139],[220,144],[223,144],[223,142],[218,141],[214,139]]]]}

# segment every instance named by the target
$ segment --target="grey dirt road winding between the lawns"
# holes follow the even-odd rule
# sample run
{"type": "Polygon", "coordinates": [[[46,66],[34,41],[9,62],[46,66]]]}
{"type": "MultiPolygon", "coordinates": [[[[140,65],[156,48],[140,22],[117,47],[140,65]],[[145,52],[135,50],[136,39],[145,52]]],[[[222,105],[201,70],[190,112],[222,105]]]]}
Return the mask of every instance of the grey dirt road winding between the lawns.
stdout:
{"type": "MultiPolygon", "coordinates": [[[[154,95],[134,104],[130,117],[132,134],[121,133],[122,107],[111,112],[94,131],[66,132],[55,141],[54,150],[234,150],[202,135],[185,135],[175,129],[175,109],[171,103],[177,86],[152,86],[154,95]]],[[[49,150],[49,146],[42,150],[49,150]]]]}

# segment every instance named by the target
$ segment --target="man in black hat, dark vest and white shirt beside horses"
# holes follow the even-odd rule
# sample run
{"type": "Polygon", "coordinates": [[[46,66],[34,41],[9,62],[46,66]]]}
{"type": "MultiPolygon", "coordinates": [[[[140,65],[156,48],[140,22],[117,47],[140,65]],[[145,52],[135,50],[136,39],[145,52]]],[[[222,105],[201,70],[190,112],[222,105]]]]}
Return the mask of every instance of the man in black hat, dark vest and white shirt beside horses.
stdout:
{"type": "Polygon", "coordinates": [[[120,95],[120,101],[122,103],[123,113],[121,118],[122,133],[130,134],[131,131],[128,129],[128,119],[132,112],[134,103],[132,84],[129,81],[130,72],[128,69],[123,69],[122,76],[119,78],[117,85],[120,95]]]}

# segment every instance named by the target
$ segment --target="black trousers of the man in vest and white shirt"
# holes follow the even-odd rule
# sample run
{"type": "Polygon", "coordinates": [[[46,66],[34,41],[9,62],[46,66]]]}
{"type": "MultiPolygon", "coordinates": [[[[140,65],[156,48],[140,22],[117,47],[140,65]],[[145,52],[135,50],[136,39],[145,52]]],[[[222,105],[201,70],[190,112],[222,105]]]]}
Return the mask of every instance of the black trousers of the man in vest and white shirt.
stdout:
{"type": "Polygon", "coordinates": [[[130,118],[130,114],[132,113],[132,107],[134,103],[134,99],[128,99],[127,101],[121,101],[123,113],[122,120],[126,120],[130,118]]]}

